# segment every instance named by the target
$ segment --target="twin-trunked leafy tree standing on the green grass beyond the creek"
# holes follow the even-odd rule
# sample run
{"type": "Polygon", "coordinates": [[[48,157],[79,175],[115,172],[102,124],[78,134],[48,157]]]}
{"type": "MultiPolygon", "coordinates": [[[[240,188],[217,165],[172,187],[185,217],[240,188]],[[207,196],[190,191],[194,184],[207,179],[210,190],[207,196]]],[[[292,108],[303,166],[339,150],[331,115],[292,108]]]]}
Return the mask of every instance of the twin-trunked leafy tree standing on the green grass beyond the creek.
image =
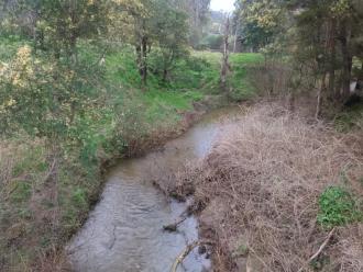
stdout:
{"type": "Polygon", "coordinates": [[[152,47],[162,52],[163,77],[166,80],[174,60],[183,54],[187,42],[187,16],[173,0],[114,0],[119,30],[128,30],[124,39],[135,47],[136,64],[142,82],[146,86],[148,54],[152,47]]]}

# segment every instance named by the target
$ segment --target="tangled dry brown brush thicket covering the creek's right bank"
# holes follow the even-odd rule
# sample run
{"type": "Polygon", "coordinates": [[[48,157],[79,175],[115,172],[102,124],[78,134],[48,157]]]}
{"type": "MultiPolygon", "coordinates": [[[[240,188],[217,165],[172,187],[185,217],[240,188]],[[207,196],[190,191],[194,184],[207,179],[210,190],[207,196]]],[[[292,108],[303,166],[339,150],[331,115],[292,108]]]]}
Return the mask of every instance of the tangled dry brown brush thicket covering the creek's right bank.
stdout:
{"type": "Polygon", "coordinates": [[[363,271],[362,223],[338,227],[307,263],[329,234],[316,220],[321,192],[340,184],[363,196],[362,147],[361,133],[338,134],[276,104],[223,131],[198,167],[174,177],[177,191],[196,188],[202,236],[219,245],[216,270],[363,271]]]}

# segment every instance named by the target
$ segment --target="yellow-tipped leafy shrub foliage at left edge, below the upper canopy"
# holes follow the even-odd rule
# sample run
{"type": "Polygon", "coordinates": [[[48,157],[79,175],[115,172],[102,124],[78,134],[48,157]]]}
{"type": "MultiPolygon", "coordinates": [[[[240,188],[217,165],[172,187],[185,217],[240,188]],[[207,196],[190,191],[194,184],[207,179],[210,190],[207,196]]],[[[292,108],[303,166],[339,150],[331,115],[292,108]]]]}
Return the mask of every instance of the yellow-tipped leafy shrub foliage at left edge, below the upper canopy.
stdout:
{"type": "Polygon", "coordinates": [[[0,75],[1,133],[24,129],[47,139],[69,139],[77,115],[95,103],[101,75],[94,67],[51,64],[29,46],[20,47],[0,75]]]}

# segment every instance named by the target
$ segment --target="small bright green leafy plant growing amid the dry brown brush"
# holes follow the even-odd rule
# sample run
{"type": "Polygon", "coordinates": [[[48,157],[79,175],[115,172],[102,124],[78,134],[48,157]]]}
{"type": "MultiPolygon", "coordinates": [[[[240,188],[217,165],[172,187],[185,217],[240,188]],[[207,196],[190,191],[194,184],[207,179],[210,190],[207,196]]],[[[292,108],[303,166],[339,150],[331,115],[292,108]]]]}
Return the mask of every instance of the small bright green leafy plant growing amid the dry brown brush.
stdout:
{"type": "Polygon", "coordinates": [[[342,226],[362,219],[354,196],[340,186],[327,188],[319,197],[318,223],[324,228],[342,226]]]}

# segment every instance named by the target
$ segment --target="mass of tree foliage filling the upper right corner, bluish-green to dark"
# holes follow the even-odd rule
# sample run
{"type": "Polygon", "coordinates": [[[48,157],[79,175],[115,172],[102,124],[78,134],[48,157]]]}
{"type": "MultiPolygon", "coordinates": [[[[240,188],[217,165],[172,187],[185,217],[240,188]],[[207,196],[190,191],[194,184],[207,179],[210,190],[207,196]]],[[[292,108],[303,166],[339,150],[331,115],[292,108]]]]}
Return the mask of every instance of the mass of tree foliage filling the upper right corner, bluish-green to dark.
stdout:
{"type": "Polygon", "coordinates": [[[351,95],[351,81],[362,80],[363,12],[358,2],[239,0],[235,21],[243,46],[272,63],[288,60],[293,69],[284,83],[287,92],[323,93],[319,115],[321,101],[343,104],[351,95]]]}

